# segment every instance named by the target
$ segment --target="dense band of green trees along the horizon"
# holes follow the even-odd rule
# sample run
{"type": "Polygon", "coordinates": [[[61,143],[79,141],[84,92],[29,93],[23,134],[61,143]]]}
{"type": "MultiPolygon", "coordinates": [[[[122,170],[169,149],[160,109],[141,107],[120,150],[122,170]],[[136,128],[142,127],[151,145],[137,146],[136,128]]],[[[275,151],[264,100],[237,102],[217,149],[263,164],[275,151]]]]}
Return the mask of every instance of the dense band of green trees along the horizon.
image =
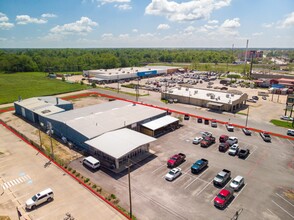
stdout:
{"type": "Polygon", "coordinates": [[[148,63],[233,63],[244,50],[231,49],[1,49],[1,72],[74,72],[148,63]]]}

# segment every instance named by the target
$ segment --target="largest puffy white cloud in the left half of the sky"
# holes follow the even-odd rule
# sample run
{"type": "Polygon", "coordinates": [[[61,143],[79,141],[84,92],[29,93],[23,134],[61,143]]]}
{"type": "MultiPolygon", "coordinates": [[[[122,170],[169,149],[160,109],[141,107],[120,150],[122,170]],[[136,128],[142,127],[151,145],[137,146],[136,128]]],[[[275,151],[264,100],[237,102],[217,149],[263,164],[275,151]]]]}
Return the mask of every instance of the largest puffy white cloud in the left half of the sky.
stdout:
{"type": "Polygon", "coordinates": [[[88,17],[81,17],[80,20],[64,24],[64,25],[57,25],[50,30],[51,33],[54,34],[86,34],[93,30],[92,27],[97,26],[98,23],[92,21],[88,17]]]}

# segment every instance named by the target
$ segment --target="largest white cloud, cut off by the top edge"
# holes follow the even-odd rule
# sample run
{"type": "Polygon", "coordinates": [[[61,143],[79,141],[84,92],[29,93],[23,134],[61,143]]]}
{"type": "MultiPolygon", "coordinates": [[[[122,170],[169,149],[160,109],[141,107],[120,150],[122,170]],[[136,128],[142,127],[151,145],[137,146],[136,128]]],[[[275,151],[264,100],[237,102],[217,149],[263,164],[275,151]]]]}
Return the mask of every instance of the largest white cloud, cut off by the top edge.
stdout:
{"type": "Polygon", "coordinates": [[[145,14],[165,16],[170,21],[193,21],[208,19],[217,9],[229,6],[231,0],[190,0],[177,3],[169,0],[152,0],[145,14]]]}

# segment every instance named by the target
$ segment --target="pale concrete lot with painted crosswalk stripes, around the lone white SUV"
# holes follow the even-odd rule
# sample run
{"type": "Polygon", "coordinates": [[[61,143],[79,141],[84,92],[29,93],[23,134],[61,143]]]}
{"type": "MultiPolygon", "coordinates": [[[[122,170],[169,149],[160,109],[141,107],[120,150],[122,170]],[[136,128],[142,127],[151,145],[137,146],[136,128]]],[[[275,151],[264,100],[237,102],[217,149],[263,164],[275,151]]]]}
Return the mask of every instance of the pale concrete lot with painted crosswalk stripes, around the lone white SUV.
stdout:
{"type": "Polygon", "coordinates": [[[43,155],[0,125],[0,215],[19,219],[126,219],[43,155]],[[17,165],[16,165],[17,164],[17,165]],[[25,210],[25,202],[51,188],[54,200],[25,210]]]}

